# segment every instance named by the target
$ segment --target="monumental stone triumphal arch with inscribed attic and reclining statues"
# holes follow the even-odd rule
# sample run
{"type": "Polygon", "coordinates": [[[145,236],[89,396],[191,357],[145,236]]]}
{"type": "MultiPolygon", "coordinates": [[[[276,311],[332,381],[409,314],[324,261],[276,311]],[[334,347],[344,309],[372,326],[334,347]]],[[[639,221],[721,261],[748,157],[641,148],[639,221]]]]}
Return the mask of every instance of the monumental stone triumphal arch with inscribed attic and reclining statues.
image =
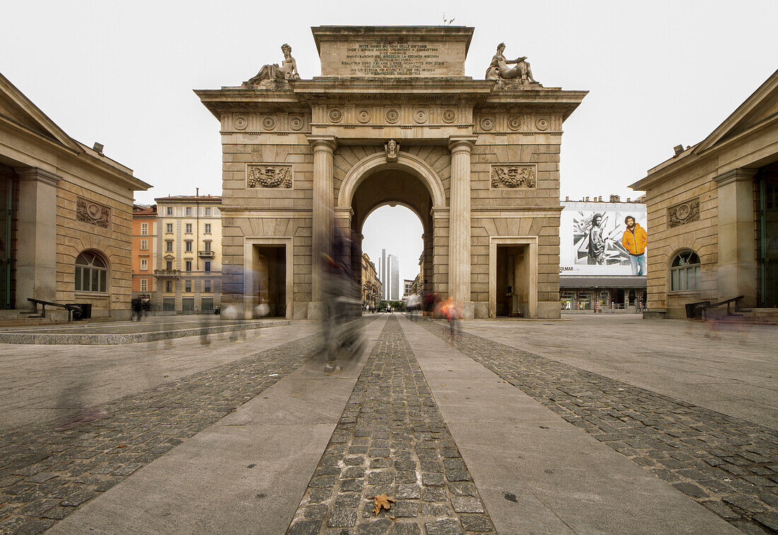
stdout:
{"type": "Polygon", "coordinates": [[[320,76],[285,44],[241,86],[195,92],[221,123],[223,309],[321,318],[333,228],[357,236],[359,275],[366,217],[397,203],[422,221],[426,290],[468,317],[559,317],[562,122],[586,92],[497,43],[485,79],[464,75],[473,30],[318,26],[320,76]]]}

